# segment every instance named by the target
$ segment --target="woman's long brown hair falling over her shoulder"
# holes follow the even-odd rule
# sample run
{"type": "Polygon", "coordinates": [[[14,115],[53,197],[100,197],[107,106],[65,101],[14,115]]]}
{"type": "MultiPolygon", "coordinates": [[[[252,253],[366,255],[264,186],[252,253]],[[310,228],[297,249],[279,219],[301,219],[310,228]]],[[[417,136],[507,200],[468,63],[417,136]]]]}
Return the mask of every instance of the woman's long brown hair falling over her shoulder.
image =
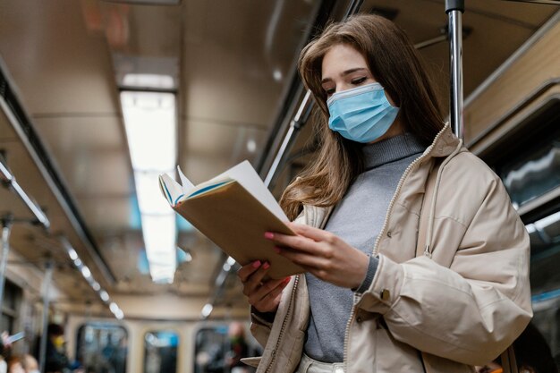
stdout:
{"type": "Polygon", "coordinates": [[[428,146],[444,126],[437,97],[420,54],[403,30],[373,14],[352,16],[333,23],[301,51],[298,70],[319,110],[315,133],[318,156],[284,191],[280,206],[292,220],[303,204],[335,205],[363,171],[361,144],[346,140],[328,128],[327,93],[321,87],[323,57],[330,47],[345,44],[364,55],[369,71],[400,106],[404,130],[428,146]]]}

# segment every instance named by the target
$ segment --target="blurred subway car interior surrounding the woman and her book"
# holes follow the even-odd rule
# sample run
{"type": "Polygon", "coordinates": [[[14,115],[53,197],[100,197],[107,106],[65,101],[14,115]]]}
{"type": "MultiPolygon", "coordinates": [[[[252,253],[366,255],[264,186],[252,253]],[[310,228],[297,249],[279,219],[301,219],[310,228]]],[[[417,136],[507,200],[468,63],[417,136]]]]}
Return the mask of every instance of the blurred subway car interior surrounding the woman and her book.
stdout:
{"type": "MultiPolygon", "coordinates": [[[[560,2],[465,3],[463,140],[530,234],[531,326],[560,366],[560,2]]],[[[236,327],[259,355],[240,265],[158,175],[248,160],[279,199],[318,149],[301,48],[353,13],[405,30],[449,117],[444,0],[0,0],[4,359],[45,371],[52,328],[77,372],[228,373],[236,327]]]]}

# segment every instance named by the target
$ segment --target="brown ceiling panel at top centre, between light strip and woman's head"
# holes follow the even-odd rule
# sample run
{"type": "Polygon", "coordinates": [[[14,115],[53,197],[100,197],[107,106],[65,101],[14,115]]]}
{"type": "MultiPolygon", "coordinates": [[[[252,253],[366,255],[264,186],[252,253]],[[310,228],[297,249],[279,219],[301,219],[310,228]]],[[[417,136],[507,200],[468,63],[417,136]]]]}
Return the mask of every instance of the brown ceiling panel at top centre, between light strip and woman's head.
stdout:
{"type": "Polygon", "coordinates": [[[186,114],[268,127],[315,4],[188,2],[183,63],[186,114]]]}

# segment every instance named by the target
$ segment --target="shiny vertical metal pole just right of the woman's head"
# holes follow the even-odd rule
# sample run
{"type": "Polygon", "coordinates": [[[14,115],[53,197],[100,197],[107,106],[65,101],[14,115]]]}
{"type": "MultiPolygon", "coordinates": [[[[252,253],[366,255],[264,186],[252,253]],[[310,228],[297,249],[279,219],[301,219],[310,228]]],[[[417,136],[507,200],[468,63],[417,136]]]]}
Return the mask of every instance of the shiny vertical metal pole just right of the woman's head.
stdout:
{"type": "Polygon", "coordinates": [[[445,0],[445,13],[449,16],[450,41],[450,91],[449,112],[454,134],[462,139],[462,13],[464,0],[445,0]]]}

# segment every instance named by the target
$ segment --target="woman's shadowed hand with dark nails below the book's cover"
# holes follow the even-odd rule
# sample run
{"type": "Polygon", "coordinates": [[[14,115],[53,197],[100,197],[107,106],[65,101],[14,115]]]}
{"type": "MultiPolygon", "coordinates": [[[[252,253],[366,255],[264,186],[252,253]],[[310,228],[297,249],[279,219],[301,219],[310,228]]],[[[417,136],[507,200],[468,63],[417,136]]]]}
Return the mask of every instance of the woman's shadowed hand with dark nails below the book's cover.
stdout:
{"type": "Polygon", "coordinates": [[[243,283],[243,294],[247,297],[249,304],[259,312],[276,312],[282,291],[290,282],[290,277],[281,280],[268,280],[262,282],[267,274],[270,264],[254,261],[241,267],[237,276],[243,283]]]}

